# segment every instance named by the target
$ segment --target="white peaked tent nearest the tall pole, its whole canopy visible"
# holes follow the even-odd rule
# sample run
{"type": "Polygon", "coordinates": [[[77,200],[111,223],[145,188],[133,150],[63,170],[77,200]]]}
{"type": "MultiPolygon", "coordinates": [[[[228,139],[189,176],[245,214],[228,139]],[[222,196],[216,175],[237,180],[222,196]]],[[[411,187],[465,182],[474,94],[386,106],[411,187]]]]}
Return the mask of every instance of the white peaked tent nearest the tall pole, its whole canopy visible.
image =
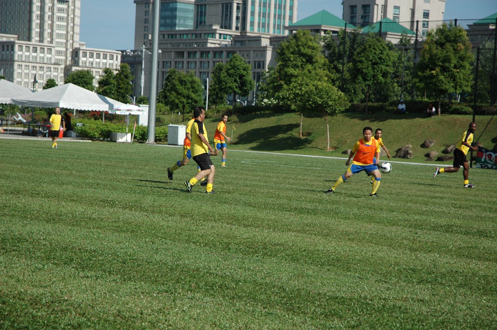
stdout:
{"type": "Polygon", "coordinates": [[[87,111],[109,111],[124,104],[72,83],[41,90],[23,98],[12,98],[12,102],[25,107],[64,107],[87,111]]]}

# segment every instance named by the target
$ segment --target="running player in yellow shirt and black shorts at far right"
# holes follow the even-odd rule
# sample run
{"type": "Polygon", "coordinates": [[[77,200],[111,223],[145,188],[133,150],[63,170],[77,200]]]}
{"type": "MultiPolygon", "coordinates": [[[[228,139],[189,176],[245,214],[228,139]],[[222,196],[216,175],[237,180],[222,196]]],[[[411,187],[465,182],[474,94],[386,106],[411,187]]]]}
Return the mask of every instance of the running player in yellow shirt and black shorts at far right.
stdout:
{"type": "Polygon", "coordinates": [[[456,149],[454,149],[454,165],[452,167],[440,168],[437,167],[435,169],[435,174],[433,174],[433,178],[438,176],[440,173],[451,173],[458,172],[459,167],[464,167],[462,170],[462,175],[464,176],[464,187],[465,188],[474,188],[475,185],[469,183],[469,165],[466,159],[467,152],[469,148],[474,151],[478,151],[478,147],[473,147],[471,143],[473,143],[474,132],[476,131],[476,123],[469,123],[469,130],[462,133],[462,137],[460,138],[458,144],[456,145],[456,149]]]}

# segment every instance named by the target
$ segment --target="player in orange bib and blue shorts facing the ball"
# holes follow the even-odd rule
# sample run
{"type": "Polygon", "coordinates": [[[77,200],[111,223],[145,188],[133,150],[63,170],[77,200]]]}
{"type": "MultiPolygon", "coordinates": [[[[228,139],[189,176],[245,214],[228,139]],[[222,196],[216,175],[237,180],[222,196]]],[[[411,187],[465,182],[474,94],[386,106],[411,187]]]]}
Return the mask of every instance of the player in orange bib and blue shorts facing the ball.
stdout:
{"type": "Polygon", "coordinates": [[[377,166],[378,160],[380,159],[380,145],[373,138],[373,129],[371,127],[364,127],[362,130],[362,136],[363,138],[357,141],[353,146],[349,159],[347,159],[347,162],[345,163],[345,165],[349,166],[351,158],[353,157],[352,165],[347,168],[345,174],[338,178],[335,185],[325,192],[326,194],[332,194],[335,192],[335,189],[340,185],[340,183],[347,181],[351,176],[353,176],[353,174],[366,171],[366,174],[371,174],[375,178],[373,189],[371,190],[371,194],[369,196],[378,196],[376,192],[378,191],[378,187],[380,187],[381,182],[381,173],[377,166]],[[374,161],[375,156],[376,161],[374,161]]]}

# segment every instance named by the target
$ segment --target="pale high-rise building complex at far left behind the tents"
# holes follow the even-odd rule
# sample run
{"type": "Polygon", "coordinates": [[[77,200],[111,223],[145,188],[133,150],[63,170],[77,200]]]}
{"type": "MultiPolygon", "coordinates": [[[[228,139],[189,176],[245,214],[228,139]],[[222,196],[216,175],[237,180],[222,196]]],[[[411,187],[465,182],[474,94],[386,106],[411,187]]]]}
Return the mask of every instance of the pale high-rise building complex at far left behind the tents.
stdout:
{"type": "Polygon", "coordinates": [[[70,72],[91,70],[97,85],[104,68],[119,68],[120,52],[85,50],[80,12],[81,0],[1,0],[0,70],[7,80],[41,90],[50,78],[62,85],[70,72]],[[81,59],[84,52],[113,61],[81,59]]]}

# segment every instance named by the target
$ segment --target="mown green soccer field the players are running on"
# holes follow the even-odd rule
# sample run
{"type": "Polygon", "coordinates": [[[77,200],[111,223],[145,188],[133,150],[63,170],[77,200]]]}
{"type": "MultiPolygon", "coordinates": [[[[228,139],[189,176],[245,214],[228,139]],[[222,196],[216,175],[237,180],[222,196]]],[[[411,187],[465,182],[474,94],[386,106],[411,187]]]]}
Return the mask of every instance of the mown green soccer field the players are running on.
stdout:
{"type": "Polygon", "coordinates": [[[496,329],[497,171],[0,140],[0,328],[496,329]]]}

